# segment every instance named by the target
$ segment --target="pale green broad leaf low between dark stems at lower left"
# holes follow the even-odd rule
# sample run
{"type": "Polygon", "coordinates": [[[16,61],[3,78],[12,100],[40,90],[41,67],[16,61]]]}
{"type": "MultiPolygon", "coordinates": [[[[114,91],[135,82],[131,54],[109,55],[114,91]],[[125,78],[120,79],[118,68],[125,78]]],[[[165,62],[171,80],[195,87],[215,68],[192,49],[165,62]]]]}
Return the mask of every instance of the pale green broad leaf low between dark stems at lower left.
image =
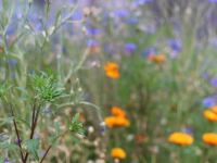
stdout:
{"type": "Polygon", "coordinates": [[[34,159],[39,160],[38,149],[39,149],[39,140],[38,139],[29,139],[26,140],[27,151],[34,156],[34,159]]]}

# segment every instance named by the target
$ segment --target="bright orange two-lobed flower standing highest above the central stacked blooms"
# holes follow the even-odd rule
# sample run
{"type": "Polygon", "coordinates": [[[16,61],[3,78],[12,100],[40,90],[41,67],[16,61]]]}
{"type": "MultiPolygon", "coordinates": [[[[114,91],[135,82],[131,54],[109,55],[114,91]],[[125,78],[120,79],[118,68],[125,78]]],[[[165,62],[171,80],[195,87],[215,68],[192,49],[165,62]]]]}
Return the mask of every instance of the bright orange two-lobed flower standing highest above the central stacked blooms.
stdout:
{"type": "Polygon", "coordinates": [[[118,67],[118,65],[116,63],[107,62],[104,65],[104,70],[105,70],[105,73],[106,73],[107,77],[114,78],[114,79],[119,78],[119,67],[118,67]]]}

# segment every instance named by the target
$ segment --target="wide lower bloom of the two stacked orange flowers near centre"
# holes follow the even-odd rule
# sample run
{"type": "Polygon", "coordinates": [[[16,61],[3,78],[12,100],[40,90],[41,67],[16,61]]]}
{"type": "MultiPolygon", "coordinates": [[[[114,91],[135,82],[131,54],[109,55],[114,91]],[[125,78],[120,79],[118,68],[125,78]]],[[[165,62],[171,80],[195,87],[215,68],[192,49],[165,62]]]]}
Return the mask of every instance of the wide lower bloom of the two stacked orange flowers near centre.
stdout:
{"type": "Polygon", "coordinates": [[[107,116],[104,122],[108,127],[128,127],[130,124],[129,120],[120,116],[107,116]]]}

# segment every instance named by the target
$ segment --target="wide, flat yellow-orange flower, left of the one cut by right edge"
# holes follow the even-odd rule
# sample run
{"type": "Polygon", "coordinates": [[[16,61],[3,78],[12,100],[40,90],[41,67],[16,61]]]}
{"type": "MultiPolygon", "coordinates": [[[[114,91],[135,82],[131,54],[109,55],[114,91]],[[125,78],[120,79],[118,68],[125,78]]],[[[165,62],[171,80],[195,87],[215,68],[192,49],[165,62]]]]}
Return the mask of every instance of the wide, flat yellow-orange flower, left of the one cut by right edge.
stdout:
{"type": "Polygon", "coordinates": [[[173,133],[168,138],[169,142],[180,145],[180,146],[192,145],[193,140],[194,139],[191,135],[186,134],[186,133],[180,133],[180,131],[173,133]]]}

